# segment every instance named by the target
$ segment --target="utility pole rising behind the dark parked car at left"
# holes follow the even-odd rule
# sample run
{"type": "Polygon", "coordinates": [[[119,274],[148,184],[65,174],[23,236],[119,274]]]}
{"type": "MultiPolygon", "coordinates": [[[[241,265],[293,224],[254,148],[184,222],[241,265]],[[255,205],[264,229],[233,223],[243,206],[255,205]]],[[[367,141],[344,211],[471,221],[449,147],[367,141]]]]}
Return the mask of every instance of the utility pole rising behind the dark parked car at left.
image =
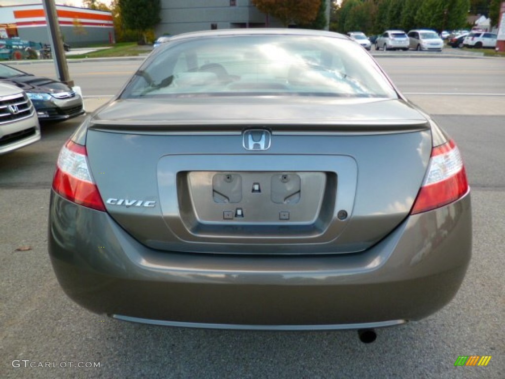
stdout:
{"type": "Polygon", "coordinates": [[[55,0],[42,0],[44,5],[45,18],[47,21],[47,30],[49,41],[51,41],[51,50],[53,52],[53,61],[55,62],[56,74],[58,79],[69,87],[74,86],[74,81],[70,79],[68,72],[67,59],[63,49],[62,32],[56,12],[55,0]]]}

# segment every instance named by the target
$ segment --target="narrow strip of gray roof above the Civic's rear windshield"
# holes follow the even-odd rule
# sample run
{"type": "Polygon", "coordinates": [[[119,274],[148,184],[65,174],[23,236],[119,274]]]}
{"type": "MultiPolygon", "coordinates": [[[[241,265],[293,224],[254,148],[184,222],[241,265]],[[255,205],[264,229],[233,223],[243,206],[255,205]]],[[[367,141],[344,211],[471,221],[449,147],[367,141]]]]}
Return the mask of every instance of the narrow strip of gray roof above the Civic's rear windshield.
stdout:
{"type": "Polygon", "coordinates": [[[312,30],[312,29],[285,29],[285,28],[254,28],[254,29],[218,29],[218,30],[204,30],[189,33],[177,34],[170,38],[171,41],[197,38],[197,37],[216,37],[216,36],[230,36],[230,35],[312,35],[348,39],[340,33],[312,30]]]}

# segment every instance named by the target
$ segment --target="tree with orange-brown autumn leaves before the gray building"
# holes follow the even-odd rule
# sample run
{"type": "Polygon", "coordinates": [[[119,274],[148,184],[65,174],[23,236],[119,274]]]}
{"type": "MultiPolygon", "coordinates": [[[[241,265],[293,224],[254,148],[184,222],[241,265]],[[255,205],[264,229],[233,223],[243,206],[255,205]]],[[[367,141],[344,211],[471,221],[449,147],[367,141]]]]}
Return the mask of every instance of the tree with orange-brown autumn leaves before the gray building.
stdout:
{"type": "Polygon", "coordinates": [[[317,16],[321,0],[252,0],[261,12],[279,19],[284,27],[290,23],[309,24],[317,16]]]}

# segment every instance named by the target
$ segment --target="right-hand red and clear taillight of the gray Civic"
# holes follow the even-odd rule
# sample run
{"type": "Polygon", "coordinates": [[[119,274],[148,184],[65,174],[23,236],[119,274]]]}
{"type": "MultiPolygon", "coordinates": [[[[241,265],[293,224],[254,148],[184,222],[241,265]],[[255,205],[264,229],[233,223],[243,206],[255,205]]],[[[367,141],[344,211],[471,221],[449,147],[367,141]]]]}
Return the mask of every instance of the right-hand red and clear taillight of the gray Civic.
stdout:
{"type": "Polygon", "coordinates": [[[468,192],[460,151],[451,140],[431,151],[428,172],[411,214],[426,212],[458,200],[468,192]]]}

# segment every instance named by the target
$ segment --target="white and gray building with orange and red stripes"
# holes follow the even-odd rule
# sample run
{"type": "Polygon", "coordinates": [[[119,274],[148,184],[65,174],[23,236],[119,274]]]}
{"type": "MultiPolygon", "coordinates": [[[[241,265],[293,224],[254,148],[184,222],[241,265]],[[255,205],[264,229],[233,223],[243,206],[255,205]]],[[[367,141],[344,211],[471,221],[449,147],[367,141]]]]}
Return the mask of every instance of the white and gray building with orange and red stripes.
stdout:
{"type": "MultiPolygon", "coordinates": [[[[56,6],[65,42],[72,47],[114,41],[111,12],[56,6]]],[[[49,43],[42,4],[0,7],[0,24],[9,25],[9,36],[49,43]]]]}

